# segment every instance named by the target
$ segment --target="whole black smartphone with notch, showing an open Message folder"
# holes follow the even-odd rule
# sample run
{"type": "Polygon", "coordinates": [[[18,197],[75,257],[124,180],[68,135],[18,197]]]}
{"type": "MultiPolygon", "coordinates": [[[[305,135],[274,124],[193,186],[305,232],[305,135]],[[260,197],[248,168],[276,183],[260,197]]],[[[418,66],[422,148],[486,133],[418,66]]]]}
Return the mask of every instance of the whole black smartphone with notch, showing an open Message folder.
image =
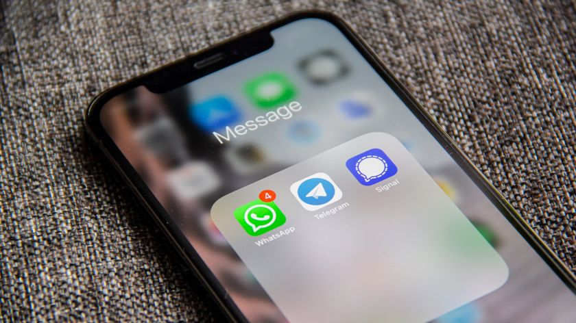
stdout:
{"type": "Polygon", "coordinates": [[[95,142],[237,322],[574,322],[575,278],[341,19],[99,94],[95,142]]]}

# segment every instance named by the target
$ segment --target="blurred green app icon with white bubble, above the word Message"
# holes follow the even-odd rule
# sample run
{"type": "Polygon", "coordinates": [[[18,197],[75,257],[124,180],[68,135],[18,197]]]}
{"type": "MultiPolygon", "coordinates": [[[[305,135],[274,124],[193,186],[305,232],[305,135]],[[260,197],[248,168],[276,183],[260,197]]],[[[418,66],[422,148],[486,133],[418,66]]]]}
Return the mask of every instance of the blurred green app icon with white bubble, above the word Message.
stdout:
{"type": "Polygon", "coordinates": [[[276,107],[296,96],[296,88],[289,79],[278,72],[270,72],[245,84],[248,98],[261,109],[276,107]]]}

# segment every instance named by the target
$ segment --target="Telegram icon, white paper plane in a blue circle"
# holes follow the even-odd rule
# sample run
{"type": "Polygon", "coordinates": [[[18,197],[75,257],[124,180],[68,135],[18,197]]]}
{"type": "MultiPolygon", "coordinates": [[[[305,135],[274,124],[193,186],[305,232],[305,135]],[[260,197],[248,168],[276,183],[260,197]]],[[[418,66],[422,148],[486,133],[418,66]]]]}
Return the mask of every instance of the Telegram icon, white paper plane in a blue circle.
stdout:
{"type": "Polygon", "coordinates": [[[342,191],[324,172],[318,172],[293,183],[290,192],[308,211],[321,209],[342,198],[342,191]]]}

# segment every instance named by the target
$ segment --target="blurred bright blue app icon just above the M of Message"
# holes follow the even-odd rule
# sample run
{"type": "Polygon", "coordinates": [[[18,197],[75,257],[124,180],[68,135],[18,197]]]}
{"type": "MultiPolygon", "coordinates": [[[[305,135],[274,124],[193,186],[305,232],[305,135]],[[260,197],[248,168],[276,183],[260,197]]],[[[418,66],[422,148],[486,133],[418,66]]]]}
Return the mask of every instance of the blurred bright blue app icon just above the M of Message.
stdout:
{"type": "Polygon", "coordinates": [[[190,114],[192,120],[206,131],[217,131],[240,120],[238,108],[226,96],[213,96],[193,103],[190,114]]]}

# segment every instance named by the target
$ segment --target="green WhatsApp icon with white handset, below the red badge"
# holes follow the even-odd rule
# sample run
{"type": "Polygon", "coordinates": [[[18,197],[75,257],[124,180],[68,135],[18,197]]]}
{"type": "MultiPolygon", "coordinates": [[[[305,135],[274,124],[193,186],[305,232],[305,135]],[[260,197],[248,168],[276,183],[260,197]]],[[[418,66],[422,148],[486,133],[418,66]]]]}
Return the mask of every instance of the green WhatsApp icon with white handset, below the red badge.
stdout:
{"type": "Polygon", "coordinates": [[[252,201],[234,210],[234,217],[249,235],[261,235],[280,227],[286,217],[274,202],[252,201]]]}

